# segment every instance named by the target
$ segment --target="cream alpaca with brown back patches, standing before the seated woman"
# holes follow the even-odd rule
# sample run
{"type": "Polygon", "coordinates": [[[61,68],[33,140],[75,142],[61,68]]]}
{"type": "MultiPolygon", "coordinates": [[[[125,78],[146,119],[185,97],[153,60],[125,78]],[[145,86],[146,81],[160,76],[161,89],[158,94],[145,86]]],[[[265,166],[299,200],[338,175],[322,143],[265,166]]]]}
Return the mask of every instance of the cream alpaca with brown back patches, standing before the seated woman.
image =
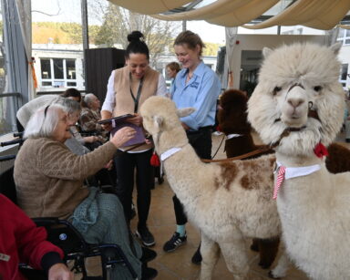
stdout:
{"type": "Polygon", "coordinates": [[[201,279],[211,279],[220,249],[234,279],[245,279],[249,265],[244,237],[281,233],[272,199],[274,157],[203,163],[180,125],[179,116],[192,111],[177,110],[170,99],[161,97],[147,99],[140,109],[172,190],[190,222],[201,230],[201,279]]]}

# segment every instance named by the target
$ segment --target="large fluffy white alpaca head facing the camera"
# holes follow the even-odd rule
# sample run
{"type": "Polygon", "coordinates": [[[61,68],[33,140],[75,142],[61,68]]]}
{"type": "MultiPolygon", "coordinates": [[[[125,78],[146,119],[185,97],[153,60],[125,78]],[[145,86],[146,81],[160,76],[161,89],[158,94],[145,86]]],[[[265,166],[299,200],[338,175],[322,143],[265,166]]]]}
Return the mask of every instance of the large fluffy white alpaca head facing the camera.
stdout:
{"type": "Polygon", "coordinates": [[[343,123],[345,92],[338,82],[340,44],[264,48],[259,83],[248,102],[248,120],[266,144],[287,155],[311,155],[328,145],[343,123]],[[283,131],[293,130],[281,138],[283,131]],[[296,131],[295,131],[296,130],[296,131]]]}

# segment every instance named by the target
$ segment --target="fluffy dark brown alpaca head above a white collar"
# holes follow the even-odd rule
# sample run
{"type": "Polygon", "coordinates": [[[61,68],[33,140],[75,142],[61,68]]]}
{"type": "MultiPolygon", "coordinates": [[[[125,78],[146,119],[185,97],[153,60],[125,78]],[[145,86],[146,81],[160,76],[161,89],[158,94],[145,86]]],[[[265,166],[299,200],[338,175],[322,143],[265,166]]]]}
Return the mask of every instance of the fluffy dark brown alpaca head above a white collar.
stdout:
{"type": "Polygon", "coordinates": [[[248,98],[242,90],[229,89],[221,95],[218,120],[220,130],[227,134],[251,132],[247,121],[248,98]]]}

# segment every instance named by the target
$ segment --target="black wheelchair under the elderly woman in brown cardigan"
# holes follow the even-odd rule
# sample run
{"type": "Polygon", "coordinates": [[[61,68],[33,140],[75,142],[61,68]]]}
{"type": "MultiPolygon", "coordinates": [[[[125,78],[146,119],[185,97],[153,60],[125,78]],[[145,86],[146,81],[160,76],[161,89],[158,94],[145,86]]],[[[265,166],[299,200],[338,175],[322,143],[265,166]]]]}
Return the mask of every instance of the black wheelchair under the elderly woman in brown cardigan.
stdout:
{"type": "MultiPolygon", "coordinates": [[[[18,143],[18,142],[17,142],[18,143]]],[[[12,145],[14,141],[3,142],[1,146],[6,144],[12,145]]],[[[12,161],[15,155],[1,156],[0,161],[12,161]]],[[[14,166],[3,171],[0,174],[0,193],[3,193],[12,202],[16,202],[15,181],[14,181],[14,166]]],[[[33,218],[37,226],[44,226],[47,232],[47,240],[52,244],[60,247],[64,254],[64,261],[73,262],[71,268],[75,273],[81,273],[82,279],[93,280],[110,278],[111,268],[116,264],[125,265],[130,274],[130,279],[138,279],[138,275],[129,263],[127,256],[123,253],[118,244],[88,244],[84,237],[77,232],[77,229],[67,220],[60,220],[53,217],[33,218]],[[88,276],[85,261],[89,257],[100,256],[101,259],[101,276],[88,276]]],[[[27,275],[28,279],[38,280],[45,279],[43,275],[33,275],[32,271],[26,273],[26,264],[20,264],[21,271],[27,275]]],[[[39,272],[42,274],[42,272],[39,272]]]]}

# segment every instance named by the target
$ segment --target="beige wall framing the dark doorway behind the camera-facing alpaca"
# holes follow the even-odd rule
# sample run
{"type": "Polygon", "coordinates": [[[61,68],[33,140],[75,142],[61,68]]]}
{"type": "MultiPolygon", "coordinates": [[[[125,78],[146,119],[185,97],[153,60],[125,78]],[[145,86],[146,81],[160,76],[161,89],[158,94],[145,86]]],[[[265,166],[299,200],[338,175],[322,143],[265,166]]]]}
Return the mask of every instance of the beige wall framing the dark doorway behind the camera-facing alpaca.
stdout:
{"type": "Polygon", "coordinates": [[[237,35],[236,44],[233,47],[233,55],[229,57],[232,65],[233,88],[240,88],[240,72],[242,50],[262,50],[263,47],[275,48],[283,44],[292,44],[293,42],[314,42],[321,45],[325,44],[325,36],[289,36],[289,35],[237,35]]]}

